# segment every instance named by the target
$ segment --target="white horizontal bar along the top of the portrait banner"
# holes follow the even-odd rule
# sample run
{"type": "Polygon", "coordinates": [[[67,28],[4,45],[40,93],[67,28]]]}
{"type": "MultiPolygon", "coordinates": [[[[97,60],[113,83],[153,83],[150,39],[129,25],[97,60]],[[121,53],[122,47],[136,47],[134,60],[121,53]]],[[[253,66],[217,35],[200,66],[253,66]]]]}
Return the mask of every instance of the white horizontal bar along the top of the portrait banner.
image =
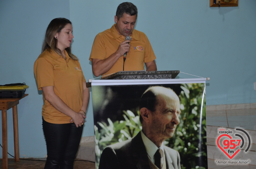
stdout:
{"type": "Polygon", "coordinates": [[[143,84],[179,84],[179,83],[205,83],[207,78],[193,78],[193,79],[127,79],[127,80],[95,80],[88,79],[92,86],[106,86],[106,85],[143,85],[143,84]]]}

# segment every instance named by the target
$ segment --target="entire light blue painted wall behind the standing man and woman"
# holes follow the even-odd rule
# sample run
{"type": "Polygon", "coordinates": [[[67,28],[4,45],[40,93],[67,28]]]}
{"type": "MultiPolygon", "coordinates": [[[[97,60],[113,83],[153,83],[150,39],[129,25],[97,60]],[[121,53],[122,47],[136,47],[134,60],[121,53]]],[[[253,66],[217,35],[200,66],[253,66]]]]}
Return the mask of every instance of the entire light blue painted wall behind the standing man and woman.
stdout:
{"type": "MultiPolygon", "coordinates": [[[[29,85],[18,105],[20,157],[44,157],[42,94],[33,64],[41,52],[47,25],[57,17],[73,23],[73,53],[79,57],[86,80],[95,78],[89,55],[97,33],[114,24],[123,1],[2,0],[0,1],[0,84],[29,85]]],[[[256,102],[256,1],[238,7],[209,7],[209,0],[130,1],[138,7],[135,28],[148,36],[159,71],[179,70],[207,81],[206,104],[256,102]]],[[[179,78],[194,78],[180,73],[179,78]]],[[[8,114],[8,152],[14,154],[11,109],[8,114]]],[[[1,117],[0,117],[1,119],[1,117]]],[[[0,121],[0,125],[1,121],[0,121]]],[[[90,99],[83,137],[94,135],[90,99]]],[[[2,143],[2,130],[0,143],[2,143]]],[[[1,149],[1,148],[0,148],[1,149]]],[[[0,150],[1,152],[1,150],[0,150]]],[[[2,153],[0,153],[0,158],[2,153]]],[[[11,156],[8,156],[11,158],[11,156]]]]}

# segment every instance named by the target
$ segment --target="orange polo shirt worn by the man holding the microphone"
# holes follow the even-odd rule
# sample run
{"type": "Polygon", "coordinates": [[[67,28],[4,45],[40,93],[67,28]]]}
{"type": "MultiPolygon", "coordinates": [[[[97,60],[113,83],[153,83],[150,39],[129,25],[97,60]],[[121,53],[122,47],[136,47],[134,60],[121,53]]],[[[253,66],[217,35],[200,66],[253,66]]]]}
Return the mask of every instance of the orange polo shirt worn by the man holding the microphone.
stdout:
{"type": "MultiPolygon", "coordinates": [[[[115,25],[96,35],[91,49],[90,61],[91,59],[106,59],[117,51],[120,43],[125,41],[125,36],[118,34],[115,25]]],[[[124,71],[142,71],[145,69],[144,63],[156,59],[149,39],[143,32],[133,30],[130,45],[130,51],[126,55],[124,71]]],[[[123,57],[119,57],[113,67],[102,76],[119,71],[123,71],[123,57]]]]}

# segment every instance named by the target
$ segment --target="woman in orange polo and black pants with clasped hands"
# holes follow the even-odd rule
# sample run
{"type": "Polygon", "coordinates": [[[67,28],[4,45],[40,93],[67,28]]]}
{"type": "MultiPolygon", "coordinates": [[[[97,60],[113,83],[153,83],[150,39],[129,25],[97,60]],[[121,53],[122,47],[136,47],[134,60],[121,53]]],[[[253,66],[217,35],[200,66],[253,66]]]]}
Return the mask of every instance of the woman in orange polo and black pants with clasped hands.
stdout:
{"type": "Polygon", "coordinates": [[[78,58],[71,53],[72,32],[68,19],[53,19],[34,64],[37,87],[43,91],[45,168],[73,168],[86,118],[89,89],[78,58]]]}

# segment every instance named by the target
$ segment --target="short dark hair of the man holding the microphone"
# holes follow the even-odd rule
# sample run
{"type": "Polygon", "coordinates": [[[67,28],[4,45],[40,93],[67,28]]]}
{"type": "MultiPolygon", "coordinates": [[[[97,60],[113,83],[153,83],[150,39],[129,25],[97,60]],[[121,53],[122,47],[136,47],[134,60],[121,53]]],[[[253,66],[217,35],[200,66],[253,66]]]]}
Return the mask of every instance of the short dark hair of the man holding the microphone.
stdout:
{"type": "Polygon", "coordinates": [[[133,5],[133,3],[123,2],[120,5],[118,5],[117,12],[115,14],[118,20],[123,17],[123,13],[133,16],[138,15],[138,10],[137,7],[133,5]]]}

